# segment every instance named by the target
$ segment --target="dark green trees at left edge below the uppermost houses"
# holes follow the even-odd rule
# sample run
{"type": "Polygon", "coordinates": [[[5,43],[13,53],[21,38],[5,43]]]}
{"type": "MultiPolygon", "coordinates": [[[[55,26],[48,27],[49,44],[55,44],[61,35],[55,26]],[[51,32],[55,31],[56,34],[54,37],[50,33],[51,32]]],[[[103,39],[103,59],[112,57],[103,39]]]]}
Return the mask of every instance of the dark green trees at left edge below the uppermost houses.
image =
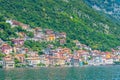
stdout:
{"type": "Polygon", "coordinates": [[[18,38],[18,32],[24,32],[29,37],[33,35],[32,32],[22,29],[21,26],[11,27],[10,24],[6,23],[5,17],[0,15],[0,39],[10,41],[13,38],[18,38]]]}

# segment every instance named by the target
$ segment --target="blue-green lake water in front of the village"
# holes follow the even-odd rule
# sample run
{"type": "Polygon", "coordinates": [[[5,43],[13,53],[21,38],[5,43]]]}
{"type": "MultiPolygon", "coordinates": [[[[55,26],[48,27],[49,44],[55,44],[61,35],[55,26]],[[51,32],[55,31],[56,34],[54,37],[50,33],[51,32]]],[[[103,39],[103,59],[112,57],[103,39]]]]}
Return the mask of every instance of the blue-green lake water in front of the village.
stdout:
{"type": "Polygon", "coordinates": [[[120,80],[120,66],[0,69],[0,80],[120,80]]]}

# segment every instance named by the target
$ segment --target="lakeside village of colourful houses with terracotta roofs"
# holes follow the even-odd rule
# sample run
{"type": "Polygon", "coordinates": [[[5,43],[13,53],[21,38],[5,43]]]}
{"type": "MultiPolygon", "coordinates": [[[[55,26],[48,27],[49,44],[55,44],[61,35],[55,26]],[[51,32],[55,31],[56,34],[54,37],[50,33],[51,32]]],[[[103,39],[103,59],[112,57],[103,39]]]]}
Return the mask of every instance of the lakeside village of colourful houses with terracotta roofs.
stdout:
{"type": "Polygon", "coordinates": [[[101,52],[99,50],[92,50],[89,46],[81,44],[78,40],[74,40],[78,50],[71,51],[71,49],[61,46],[53,48],[54,45],[50,44],[42,50],[44,54],[39,55],[37,51],[24,47],[24,42],[26,40],[40,42],[58,40],[61,45],[64,45],[66,44],[66,33],[55,33],[51,29],[44,29],[43,31],[40,27],[30,28],[29,25],[15,20],[7,20],[6,23],[10,23],[11,27],[21,26],[23,29],[33,32],[34,37],[29,38],[21,32],[19,34],[22,38],[11,39],[14,46],[10,46],[0,39],[0,53],[4,55],[0,57],[1,68],[107,65],[120,61],[120,49],[112,50],[111,52],[101,52]]]}

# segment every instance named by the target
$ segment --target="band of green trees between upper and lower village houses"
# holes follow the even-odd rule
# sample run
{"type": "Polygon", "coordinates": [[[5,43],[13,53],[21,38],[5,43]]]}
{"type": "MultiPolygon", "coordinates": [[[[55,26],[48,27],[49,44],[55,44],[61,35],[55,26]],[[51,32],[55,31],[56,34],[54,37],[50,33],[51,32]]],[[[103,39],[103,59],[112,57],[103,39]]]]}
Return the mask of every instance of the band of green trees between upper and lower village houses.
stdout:
{"type": "Polygon", "coordinates": [[[48,48],[50,45],[52,45],[52,49],[58,48],[58,47],[67,47],[70,49],[75,48],[75,43],[71,40],[67,40],[67,43],[64,45],[60,45],[59,41],[53,41],[53,42],[39,42],[39,41],[32,41],[32,40],[27,40],[25,41],[24,46],[32,49],[33,51],[37,51],[39,54],[43,54],[42,50],[45,48],[48,48]]]}

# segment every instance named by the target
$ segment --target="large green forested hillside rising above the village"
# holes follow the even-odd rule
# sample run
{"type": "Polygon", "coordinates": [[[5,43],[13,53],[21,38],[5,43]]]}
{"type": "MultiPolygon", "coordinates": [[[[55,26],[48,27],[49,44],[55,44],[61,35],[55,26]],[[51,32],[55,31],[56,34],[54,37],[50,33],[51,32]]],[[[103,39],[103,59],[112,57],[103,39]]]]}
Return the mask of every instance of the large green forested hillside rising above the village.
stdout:
{"type": "Polygon", "coordinates": [[[0,0],[0,14],[31,27],[64,31],[93,49],[120,45],[120,25],[82,0],[0,0]]]}

